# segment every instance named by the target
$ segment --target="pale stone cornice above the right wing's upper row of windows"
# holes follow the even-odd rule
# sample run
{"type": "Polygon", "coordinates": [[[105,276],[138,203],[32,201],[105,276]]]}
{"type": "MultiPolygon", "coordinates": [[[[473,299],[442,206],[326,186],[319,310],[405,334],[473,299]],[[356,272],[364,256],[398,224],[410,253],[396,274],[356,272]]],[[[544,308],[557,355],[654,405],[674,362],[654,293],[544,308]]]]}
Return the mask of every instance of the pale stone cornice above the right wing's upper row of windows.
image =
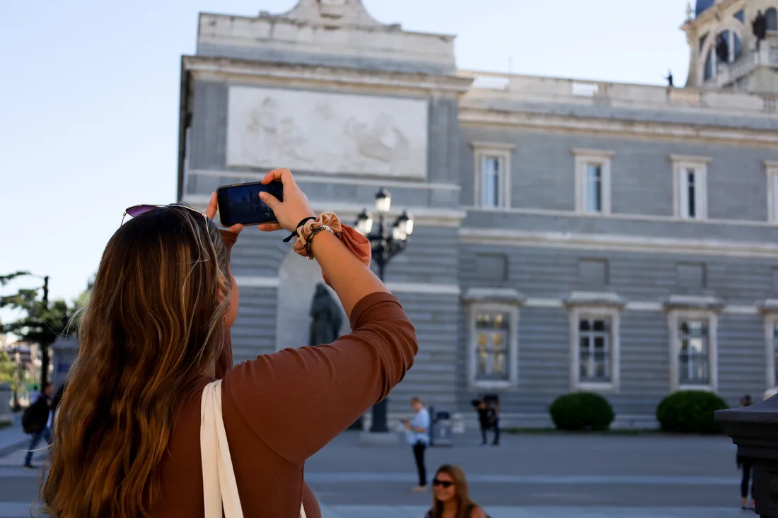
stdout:
{"type": "Polygon", "coordinates": [[[732,144],[741,146],[778,145],[778,131],[723,128],[701,124],[667,122],[622,121],[595,117],[565,117],[524,111],[491,110],[461,106],[459,121],[464,125],[496,126],[530,129],[534,131],[561,131],[572,133],[615,135],[657,140],[691,140],[696,142],[732,144]]]}

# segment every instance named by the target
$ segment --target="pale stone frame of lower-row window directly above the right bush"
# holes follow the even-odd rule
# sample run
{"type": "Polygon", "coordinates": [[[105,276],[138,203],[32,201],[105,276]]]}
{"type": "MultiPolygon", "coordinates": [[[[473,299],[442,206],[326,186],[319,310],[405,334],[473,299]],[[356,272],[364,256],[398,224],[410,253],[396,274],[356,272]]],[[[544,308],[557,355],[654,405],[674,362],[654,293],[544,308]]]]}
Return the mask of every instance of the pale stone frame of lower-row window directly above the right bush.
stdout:
{"type": "Polygon", "coordinates": [[[670,349],[670,390],[718,390],[718,313],[705,309],[674,309],[668,311],[670,349]],[[682,384],[679,380],[681,342],[678,326],[682,320],[708,321],[708,383],[706,385],[682,384]]]}

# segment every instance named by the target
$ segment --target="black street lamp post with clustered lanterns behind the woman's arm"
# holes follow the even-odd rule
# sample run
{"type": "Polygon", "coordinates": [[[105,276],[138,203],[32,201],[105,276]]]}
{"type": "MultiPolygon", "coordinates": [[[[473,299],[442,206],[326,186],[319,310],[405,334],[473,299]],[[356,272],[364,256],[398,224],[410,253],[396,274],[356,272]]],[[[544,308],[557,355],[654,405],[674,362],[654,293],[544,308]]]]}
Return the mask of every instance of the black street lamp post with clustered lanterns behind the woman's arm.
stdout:
{"type": "MultiPolygon", "coordinates": [[[[373,221],[373,215],[363,210],[356,219],[356,229],[370,241],[373,251],[373,262],[378,267],[378,278],[384,281],[384,269],[392,257],[405,251],[408,247],[408,236],[413,233],[413,218],[408,212],[403,211],[394,223],[387,226],[386,217],[391,208],[391,195],[384,187],[376,194],[375,210],[377,221],[373,221]],[[377,223],[374,225],[373,223],[377,223]]],[[[370,432],[387,433],[387,400],[384,399],[373,405],[373,422],[370,432]]]]}

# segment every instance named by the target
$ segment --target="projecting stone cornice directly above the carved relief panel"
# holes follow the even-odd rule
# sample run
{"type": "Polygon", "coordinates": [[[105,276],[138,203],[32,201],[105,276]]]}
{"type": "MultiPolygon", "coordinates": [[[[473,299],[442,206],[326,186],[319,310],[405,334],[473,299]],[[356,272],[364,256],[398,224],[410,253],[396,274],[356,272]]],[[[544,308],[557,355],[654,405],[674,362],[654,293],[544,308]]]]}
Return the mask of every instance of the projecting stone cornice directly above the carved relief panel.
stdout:
{"type": "Polygon", "coordinates": [[[390,89],[415,93],[448,93],[459,95],[468,91],[471,78],[458,75],[436,75],[409,72],[385,72],[359,68],[337,68],[323,65],[297,65],[277,61],[254,61],[208,56],[184,56],[184,69],[195,79],[226,82],[276,83],[300,86],[351,87],[356,89],[390,89]]]}

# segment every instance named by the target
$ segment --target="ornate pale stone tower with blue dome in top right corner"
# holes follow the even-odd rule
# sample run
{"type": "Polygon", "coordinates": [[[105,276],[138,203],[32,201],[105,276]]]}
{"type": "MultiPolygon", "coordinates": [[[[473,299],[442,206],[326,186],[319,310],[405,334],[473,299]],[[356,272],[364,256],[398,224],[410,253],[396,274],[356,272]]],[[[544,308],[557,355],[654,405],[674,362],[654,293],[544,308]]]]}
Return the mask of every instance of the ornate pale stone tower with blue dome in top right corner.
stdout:
{"type": "Polygon", "coordinates": [[[778,0],[696,0],[686,86],[778,93],[778,0]],[[764,39],[756,36],[761,20],[764,39]]]}

